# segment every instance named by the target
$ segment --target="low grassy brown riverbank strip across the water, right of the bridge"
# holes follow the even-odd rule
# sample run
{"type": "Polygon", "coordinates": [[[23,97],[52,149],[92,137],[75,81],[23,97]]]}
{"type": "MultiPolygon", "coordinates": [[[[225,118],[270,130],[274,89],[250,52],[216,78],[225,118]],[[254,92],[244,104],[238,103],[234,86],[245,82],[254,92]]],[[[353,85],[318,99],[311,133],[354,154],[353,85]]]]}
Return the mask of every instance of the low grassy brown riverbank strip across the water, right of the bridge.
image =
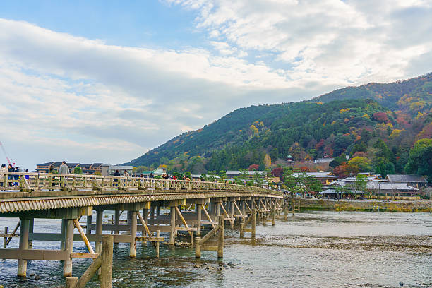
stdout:
{"type": "Polygon", "coordinates": [[[300,209],[335,211],[385,211],[385,212],[432,212],[432,201],[389,201],[385,200],[323,200],[300,199],[300,209]]]}

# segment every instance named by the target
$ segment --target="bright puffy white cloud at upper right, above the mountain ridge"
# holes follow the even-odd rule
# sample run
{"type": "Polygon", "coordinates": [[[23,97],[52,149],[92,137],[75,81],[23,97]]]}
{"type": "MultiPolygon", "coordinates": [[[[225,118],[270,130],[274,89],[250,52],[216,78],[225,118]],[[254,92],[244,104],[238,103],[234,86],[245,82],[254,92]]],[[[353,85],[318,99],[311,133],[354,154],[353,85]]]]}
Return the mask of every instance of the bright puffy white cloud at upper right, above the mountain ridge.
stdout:
{"type": "Polygon", "coordinates": [[[169,2],[198,11],[197,27],[231,49],[253,52],[257,59],[272,52],[274,63],[287,66],[285,75],[299,86],[389,81],[428,72],[412,73],[410,63],[431,55],[431,1],[169,2]]]}

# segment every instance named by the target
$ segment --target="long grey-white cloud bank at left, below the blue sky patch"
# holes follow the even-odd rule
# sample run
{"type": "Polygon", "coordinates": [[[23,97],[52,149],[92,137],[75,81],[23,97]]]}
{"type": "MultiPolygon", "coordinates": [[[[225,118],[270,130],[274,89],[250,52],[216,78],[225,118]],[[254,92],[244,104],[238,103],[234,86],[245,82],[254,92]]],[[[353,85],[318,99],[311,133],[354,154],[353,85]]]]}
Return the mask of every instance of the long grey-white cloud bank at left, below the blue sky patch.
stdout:
{"type": "Polygon", "coordinates": [[[48,151],[53,160],[131,160],[236,107],[263,102],[251,95],[255,89],[275,90],[282,100],[290,87],[277,71],[234,56],[110,46],[0,20],[0,125],[8,127],[0,138],[30,169],[49,160],[48,151]],[[59,147],[64,153],[54,153],[59,147]]]}

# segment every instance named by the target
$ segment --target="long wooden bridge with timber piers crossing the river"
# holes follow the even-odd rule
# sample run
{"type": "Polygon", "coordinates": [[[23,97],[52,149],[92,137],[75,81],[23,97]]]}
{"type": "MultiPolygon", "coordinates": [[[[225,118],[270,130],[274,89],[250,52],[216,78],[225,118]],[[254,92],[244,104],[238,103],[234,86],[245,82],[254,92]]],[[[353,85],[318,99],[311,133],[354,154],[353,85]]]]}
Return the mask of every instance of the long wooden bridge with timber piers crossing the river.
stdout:
{"type": "MultiPolygon", "coordinates": [[[[27,260],[62,260],[64,276],[68,277],[73,258],[97,258],[104,235],[113,235],[114,243],[128,243],[132,258],[137,241],[154,244],[158,257],[160,242],[164,242],[161,232],[168,232],[167,245],[174,246],[179,232],[186,233],[193,245],[195,236],[200,241],[203,228],[213,228],[214,232],[203,239],[222,231],[219,239],[223,247],[223,229],[239,227],[241,236],[251,232],[254,237],[256,221],[266,224],[270,217],[274,225],[281,212],[287,217],[286,202],[280,191],[236,184],[4,172],[0,174],[0,217],[18,217],[20,221],[11,233],[0,235],[5,239],[0,258],[18,259],[21,277],[26,275],[27,260]],[[114,211],[111,222],[102,222],[104,211],[114,211]],[[123,213],[127,220],[121,221],[123,213]],[[85,224],[80,223],[83,216],[85,224]],[[33,232],[37,218],[61,220],[61,232],[33,232]],[[251,228],[246,227],[248,224],[251,228]],[[18,227],[19,248],[7,248],[18,227]],[[78,234],[74,234],[75,229],[78,234]],[[32,249],[32,241],[59,241],[60,246],[56,250],[32,249]],[[88,253],[74,253],[74,241],[84,241],[88,253]],[[90,242],[95,242],[94,249],[90,242]]],[[[204,246],[203,240],[200,244],[197,256],[207,249],[217,250],[222,257],[220,248],[204,246]]]]}

